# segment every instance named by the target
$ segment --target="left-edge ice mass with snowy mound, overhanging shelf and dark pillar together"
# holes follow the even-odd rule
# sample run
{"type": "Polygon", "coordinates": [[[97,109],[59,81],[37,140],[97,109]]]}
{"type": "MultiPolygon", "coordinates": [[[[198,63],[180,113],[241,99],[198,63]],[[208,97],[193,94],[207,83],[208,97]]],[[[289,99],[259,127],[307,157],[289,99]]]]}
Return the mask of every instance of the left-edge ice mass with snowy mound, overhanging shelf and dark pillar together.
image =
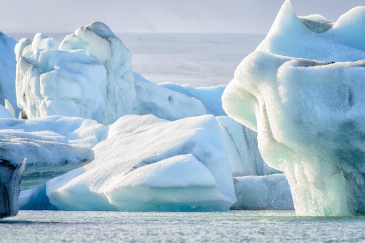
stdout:
{"type": "Polygon", "coordinates": [[[42,185],[92,161],[87,147],[98,142],[96,133],[104,136],[103,128],[81,118],[0,119],[0,218],[17,213],[19,189],[42,185]]]}

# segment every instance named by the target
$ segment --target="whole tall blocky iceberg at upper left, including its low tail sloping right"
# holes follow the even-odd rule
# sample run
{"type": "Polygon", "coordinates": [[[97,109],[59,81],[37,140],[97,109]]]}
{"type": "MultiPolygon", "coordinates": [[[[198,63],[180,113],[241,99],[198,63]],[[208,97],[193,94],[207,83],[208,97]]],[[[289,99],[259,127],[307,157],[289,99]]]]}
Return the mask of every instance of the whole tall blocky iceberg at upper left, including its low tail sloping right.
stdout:
{"type": "Polygon", "coordinates": [[[207,114],[194,97],[149,82],[131,69],[131,53],[103,23],[78,28],[60,43],[41,33],[15,46],[16,97],[22,117],[68,116],[106,125],[125,115],[166,120],[207,114]]]}

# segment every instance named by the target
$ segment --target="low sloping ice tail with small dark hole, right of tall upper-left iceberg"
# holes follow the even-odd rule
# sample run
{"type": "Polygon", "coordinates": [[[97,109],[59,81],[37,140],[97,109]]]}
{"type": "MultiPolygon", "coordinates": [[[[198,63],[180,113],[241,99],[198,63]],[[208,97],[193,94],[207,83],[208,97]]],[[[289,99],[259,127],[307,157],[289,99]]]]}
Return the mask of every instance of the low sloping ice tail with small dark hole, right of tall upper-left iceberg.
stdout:
{"type": "Polygon", "coordinates": [[[138,73],[134,75],[137,98],[133,102],[132,114],[152,114],[170,121],[207,114],[199,100],[154,84],[138,73]]]}

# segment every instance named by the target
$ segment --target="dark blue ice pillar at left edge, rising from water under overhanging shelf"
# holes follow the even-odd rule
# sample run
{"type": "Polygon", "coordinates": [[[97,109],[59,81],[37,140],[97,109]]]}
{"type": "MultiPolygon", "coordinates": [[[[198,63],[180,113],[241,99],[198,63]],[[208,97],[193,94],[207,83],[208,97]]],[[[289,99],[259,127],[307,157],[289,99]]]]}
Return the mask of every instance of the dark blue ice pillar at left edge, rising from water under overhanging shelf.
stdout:
{"type": "Polygon", "coordinates": [[[18,197],[25,159],[9,161],[0,158],[0,219],[15,216],[19,211],[18,197]]]}

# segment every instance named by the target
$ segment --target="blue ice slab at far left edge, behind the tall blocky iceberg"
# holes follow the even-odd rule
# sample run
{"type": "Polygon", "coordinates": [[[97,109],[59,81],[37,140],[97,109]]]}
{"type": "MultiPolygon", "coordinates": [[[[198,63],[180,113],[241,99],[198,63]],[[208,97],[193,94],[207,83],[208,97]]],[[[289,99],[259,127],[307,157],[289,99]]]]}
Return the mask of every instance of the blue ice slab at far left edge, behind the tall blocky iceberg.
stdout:
{"type": "Polygon", "coordinates": [[[15,96],[15,54],[16,40],[0,32],[0,105],[5,106],[8,100],[18,116],[20,109],[16,106],[15,96]]]}

